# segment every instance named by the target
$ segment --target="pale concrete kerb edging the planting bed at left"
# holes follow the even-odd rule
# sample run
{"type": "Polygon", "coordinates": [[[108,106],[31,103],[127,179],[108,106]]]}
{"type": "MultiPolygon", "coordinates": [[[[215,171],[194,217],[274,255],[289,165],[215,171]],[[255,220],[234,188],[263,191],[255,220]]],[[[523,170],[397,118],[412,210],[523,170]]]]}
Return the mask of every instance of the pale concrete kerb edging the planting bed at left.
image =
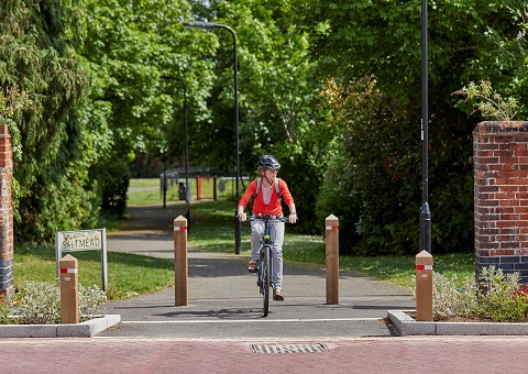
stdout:
{"type": "Polygon", "coordinates": [[[92,338],[119,322],[120,315],[107,315],[80,323],[0,324],[0,338],[92,338]]]}

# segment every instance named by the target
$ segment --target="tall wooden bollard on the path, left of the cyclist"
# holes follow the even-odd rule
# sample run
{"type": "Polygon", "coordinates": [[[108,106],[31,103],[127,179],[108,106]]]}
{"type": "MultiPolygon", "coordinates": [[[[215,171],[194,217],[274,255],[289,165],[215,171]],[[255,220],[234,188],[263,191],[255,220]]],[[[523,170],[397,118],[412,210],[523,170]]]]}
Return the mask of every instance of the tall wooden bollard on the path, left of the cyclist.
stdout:
{"type": "Polygon", "coordinates": [[[174,220],[174,296],[175,305],[186,306],[188,300],[187,219],[174,220]]]}

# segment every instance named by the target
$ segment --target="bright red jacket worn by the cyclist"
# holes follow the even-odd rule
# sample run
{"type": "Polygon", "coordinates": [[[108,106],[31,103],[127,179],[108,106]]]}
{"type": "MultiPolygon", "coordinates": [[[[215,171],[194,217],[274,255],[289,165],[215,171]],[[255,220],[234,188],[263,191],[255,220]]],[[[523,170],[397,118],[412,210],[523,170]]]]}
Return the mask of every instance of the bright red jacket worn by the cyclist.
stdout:
{"type": "MultiPolygon", "coordinates": [[[[261,183],[261,190],[256,195],[255,201],[253,201],[253,215],[255,216],[272,215],[277,217],[283,216],[283,207],[280,206],[280,198],[277,195],[277,191],[275,190],[275,185],[272,184],[272,198],[270,199],[270,204],[267,206],[264,204],[264,197],[263,197],[264,194],[262,193],[263,186],[264,186],[264,183],[261,183]]],[[[242,196],[242,198],[239,201],[239,206],[242,206],[245,208],[250,199],[255,195],[255,189],[256,189],[256,179],[250,183],[250,185],[248,186],[248,189],[244,193],[244,196],[242,196]]],[[[294,204],[294,198],[289,193],[288,185],[286,185],[286,182],[284,182],[280,178],[278,178],[278,190],[280,191],[280,196],[283,197],[284,202],[288,207],[292,204],[294,204]]]]}

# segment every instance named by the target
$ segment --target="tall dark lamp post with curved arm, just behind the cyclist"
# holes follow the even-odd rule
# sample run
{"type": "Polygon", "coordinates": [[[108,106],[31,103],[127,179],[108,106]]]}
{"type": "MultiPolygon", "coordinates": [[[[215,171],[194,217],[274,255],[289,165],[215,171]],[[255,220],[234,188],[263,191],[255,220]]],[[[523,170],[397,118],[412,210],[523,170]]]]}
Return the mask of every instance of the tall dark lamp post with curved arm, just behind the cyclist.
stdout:
{"type": "Polygon", "coordinates": [[[233,36],[233,55],[234,55],[234,143],[235,143],[235,152],[237,152],[237,176],[235,176],[235,201],[234,201],[234,253],[240,254],[240,246],[241,246],[241,232],[242,227],[240,221],[237,218],[237,206],[240,200],[240,190],[239,190],[239,179],[240,179],[240,151],[239,151],[239,81],[238,81],[238,72],[239,72],[239,63],[237,56],[237,35],[234,31],[226,25],[220,23],[213,22],[201,22],[201,21],[187,21],[184,23],[186,29],[197,29],[197,30],[206,30],[212,31],[213,29],[226,29],[228,30],[231,35],[233,36]]]}

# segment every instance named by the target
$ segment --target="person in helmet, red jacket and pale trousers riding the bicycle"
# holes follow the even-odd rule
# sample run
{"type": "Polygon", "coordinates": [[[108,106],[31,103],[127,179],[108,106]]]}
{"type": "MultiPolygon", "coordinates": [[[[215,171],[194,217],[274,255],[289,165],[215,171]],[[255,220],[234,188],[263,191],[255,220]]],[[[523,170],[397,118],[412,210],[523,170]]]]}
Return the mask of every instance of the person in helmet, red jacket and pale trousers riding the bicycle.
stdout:
{"type": "MultiPolygon", "coordinates": [[[[260,177],[252,180],[248,186],[244,195],[239,201],[238,218],[240,221],[245,221],[248,216],[244,209],[249,200],[254,196],[253,216],[271,215],[275,217],[283,217],[283,207],[280,199],[288,206],[289,223],[297,222],[297,213],[295,210],[295,202],[289,193],[286,182],[277,178],[280,164],[272,155],[264,155],[257,162],[260,177]],[[257,186],[260,186],[257,190],[257,186]],[[278,193],[277,193],[278,191],[278,193]]],[[[271,239],[273,242],[273,299],[284,301],[282,290],[283,286],[283,241],[284,241],[284,222],[274,221],[271,230],[271,239]]],[[[258,221],[251,222],[251,260],[248,263],[248,271],[256,273],[256,262],[258,260],[258,249],[261,238],[264,234],[264,227],[258,221]]]]}

